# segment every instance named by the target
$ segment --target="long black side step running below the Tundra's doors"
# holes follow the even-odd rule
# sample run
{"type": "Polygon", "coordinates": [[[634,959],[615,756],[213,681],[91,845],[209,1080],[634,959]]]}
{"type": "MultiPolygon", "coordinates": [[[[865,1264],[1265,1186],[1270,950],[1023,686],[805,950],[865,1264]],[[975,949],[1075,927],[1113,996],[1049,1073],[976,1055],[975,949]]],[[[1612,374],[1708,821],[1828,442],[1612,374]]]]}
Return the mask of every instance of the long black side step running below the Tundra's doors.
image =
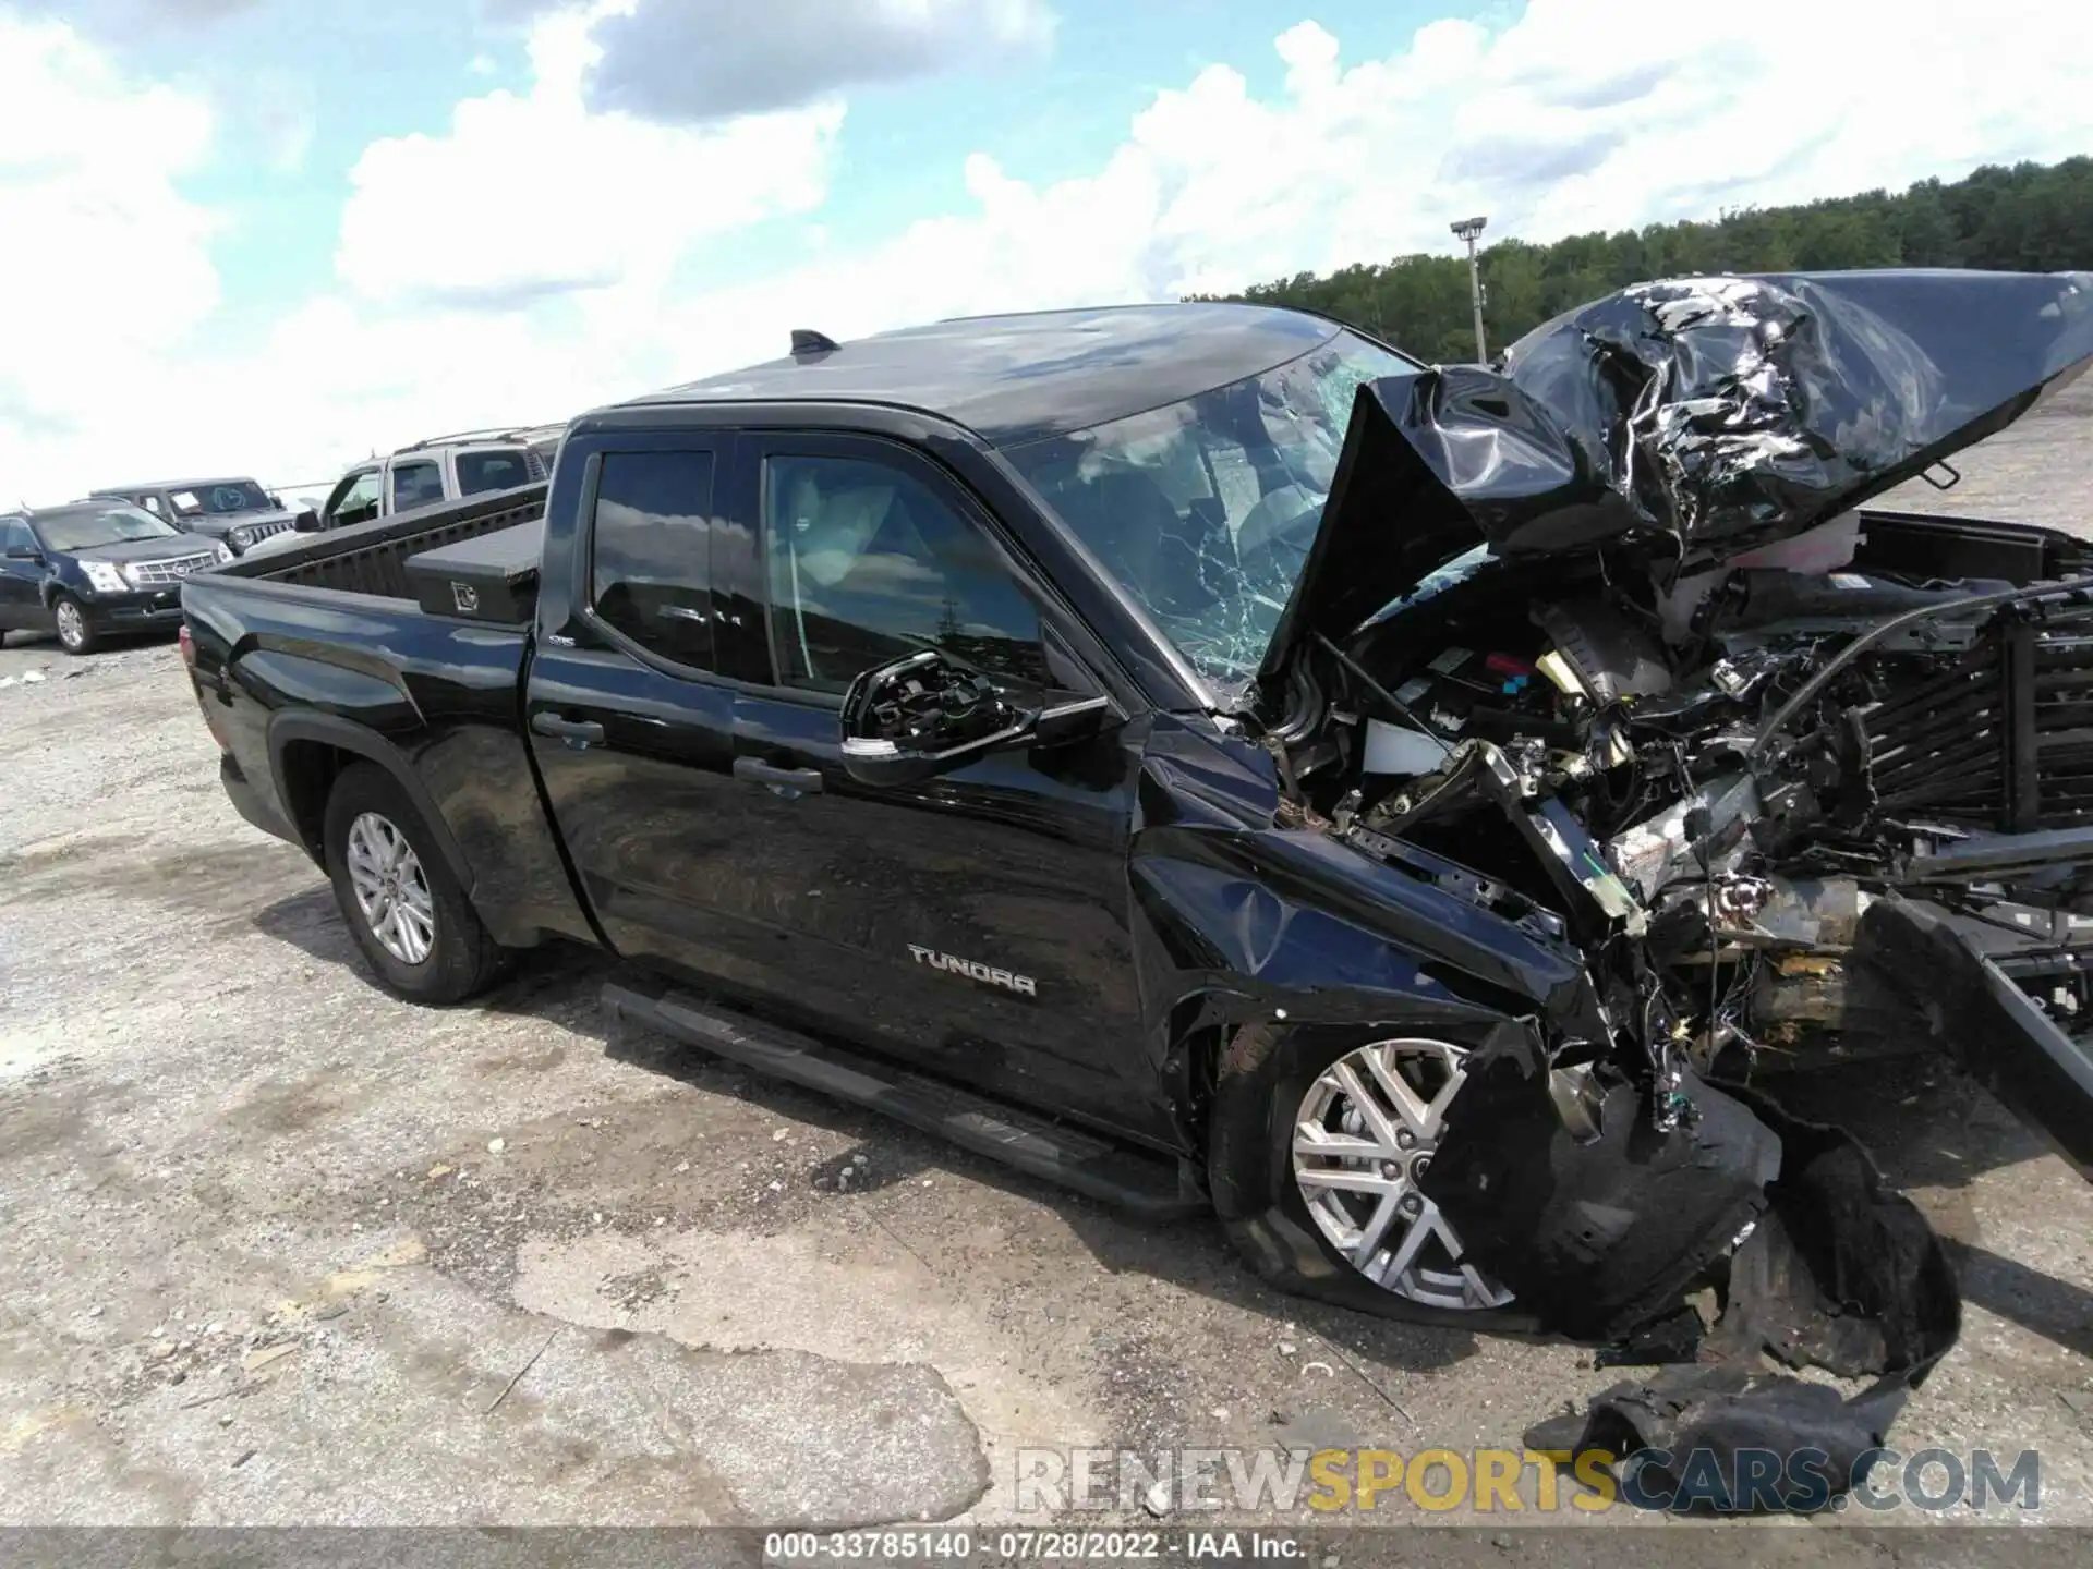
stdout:
{"type": "Polygon", "coordinates": [[[728,1013],[687,992],[651,998],[613,983],[603,987],[603,1010],[611,1019],[659,1029],[770,1077],[871,1107],[965,1151],[1147,1220],[1174,1220],[1208,1207],[1206,1195],[1162,1155],[1028,1117],[938,1079],[728,1013]]]}

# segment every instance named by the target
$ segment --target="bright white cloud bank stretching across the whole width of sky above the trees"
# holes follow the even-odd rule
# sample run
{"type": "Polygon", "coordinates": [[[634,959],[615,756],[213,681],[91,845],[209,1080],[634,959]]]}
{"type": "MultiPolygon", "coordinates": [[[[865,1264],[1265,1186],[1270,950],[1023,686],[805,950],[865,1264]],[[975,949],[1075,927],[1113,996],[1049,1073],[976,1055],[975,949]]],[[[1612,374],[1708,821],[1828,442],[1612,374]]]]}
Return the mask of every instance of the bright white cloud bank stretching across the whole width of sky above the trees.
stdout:
{"type": "Polygon", "coordinates": [[[1534,0],[1356,63],[1300,23],[1275,42],[1270,96],[1210,67],[1057,184],[1013,178],[954,128],[967,199],[848,245],[820,230],[839,107],[712,128],[592,113],[592,15],[534,29],[530,92],[366,151],[337,285],[253,358],[197,347],[209,218],[176,180],[207,146],[203,107],[0,21],[0,232],[67,236],[0,247],[0,496],[113,469],[308,479],[287,471],[772,358],[791,326],[850,337],[1233,289],[1450,249],[1446,222],[1473,211],[1492,236],[1547,241],[2093,146],[2083,6],[1995,0],[1974,29],[1946,0],[1907,0],[1888,25],[1869,0],[1676,0],[1662,25],[1647,6],[1534,0]],[[804,218],[795,268],[689,282],[766,218],[804,218]]]}

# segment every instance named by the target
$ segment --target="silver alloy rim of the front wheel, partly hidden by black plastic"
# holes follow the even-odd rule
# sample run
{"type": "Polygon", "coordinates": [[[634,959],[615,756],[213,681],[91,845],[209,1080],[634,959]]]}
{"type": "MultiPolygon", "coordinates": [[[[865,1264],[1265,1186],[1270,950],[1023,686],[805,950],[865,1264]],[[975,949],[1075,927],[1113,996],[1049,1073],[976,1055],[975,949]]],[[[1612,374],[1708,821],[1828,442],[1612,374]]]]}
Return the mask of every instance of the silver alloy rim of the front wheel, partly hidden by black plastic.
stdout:
{"type": "Polygon", "coordinates": [[[1511,1293],[1467,1261],[1419,1188],[1467,1082],[1461,1046],[1377,1040],[1331,1063],[1293,1119],[1293,1182],[1323,1236],[1383,1291],[1484,1312],[1511,1293]]]}

